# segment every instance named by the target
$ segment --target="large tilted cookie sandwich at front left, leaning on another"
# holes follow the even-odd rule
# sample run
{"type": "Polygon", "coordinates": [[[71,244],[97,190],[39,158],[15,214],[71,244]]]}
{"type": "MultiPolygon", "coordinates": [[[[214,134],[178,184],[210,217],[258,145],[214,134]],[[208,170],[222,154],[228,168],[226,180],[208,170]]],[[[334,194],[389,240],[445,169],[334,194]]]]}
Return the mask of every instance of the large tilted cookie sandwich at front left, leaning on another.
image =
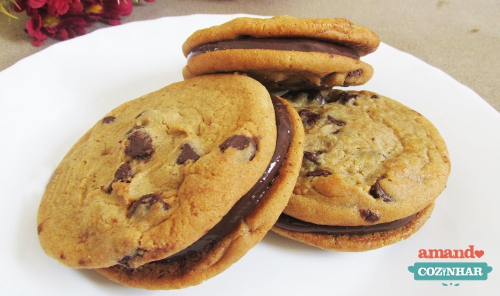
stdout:
{"type": "Polygon", "coordinates": [[[66,266],[129,286],[200,283],[276,221],[303,136],[290,104],[243,75],[195,77],[125,102],[53,173],[40,244],[66,266]]]}

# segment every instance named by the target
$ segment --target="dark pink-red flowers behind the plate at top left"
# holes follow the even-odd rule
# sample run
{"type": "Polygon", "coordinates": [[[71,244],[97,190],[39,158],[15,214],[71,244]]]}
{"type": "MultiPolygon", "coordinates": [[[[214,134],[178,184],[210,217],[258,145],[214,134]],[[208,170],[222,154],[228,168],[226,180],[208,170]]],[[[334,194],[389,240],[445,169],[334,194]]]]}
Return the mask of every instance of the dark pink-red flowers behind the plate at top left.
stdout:
{"type": "Polygon", "coordinates": [[[47,36],[66,40],[83,35],[95,21],[120,24],[120,16],[132,12],[132,0],[0,0],[3,14],[17,18],[13,12],[22,11],[29,16],[25,31],[39,46],[47,36]]]}

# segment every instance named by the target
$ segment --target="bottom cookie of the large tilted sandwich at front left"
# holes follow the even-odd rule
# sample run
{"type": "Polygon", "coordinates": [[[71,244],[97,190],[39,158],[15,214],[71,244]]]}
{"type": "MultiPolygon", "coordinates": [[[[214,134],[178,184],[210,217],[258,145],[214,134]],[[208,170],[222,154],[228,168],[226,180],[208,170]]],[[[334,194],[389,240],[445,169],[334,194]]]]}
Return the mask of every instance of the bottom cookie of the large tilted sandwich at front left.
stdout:
{"type": "MultiPolygon", "coordinates": [[[[114,265],[97,271],[114,281],[130,286],[148,289],[181,288],[198,284],[220,273],[260,241],[278,218],[280,209],[282,210],[288,201],[295,183],[293,177],[298,176],[303,153],[304,135],[300,118],[286,100],[281,98],[279,100],[290,116],[291,142],[287,154],[282,159],[279,174],[252,212],[239,220],[233,228],[227,229],[229,232],[218,241],[214,241],[213,245],[210,243],[208,248],[202,251],[196,249],[211,240],[210,236],[214,234],[212,231],[188,249],[168,258],[152,261],[138,268],[114,265]]],[[[283,109],[280,112],[283,112],[283,109]]],[[[225,216],[222,223],[214,228],[225,228],[224,220],[230,218],[225,216]]]]}

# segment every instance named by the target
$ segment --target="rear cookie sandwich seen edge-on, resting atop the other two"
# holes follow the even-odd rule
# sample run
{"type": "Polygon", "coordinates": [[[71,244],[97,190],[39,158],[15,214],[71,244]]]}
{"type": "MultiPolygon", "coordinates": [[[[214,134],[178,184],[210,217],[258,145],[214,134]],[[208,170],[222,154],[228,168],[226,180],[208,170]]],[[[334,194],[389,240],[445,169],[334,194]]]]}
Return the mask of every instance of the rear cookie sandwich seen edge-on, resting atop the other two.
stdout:
{"type": "Polygon", "coordinates": [[[378,44],[374,32],[344,18],[238,17],[189,36],[182,73],[240,71],[271,89],[359,85],[373,74],[359,56],[378,44]]]}

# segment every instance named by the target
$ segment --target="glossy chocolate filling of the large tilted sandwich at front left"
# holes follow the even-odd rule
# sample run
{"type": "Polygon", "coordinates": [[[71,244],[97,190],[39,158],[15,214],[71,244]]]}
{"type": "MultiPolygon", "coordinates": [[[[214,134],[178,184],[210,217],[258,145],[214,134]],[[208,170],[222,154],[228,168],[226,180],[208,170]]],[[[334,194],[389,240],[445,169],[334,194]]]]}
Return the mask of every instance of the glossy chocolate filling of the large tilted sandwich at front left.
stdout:
{"type": "Polygon", "coordinates": [[[209,251],[217,242],[231,233],[236,225],[260,203],[265,191],[277,176],[291,142],[292,125],[289,113],[285,105],[281,103],[278,98],[271,95],[271,100],[274,105],[274,113],[276,116],[276,148],[262,176],[245,195],[234,203],[227,214],[225,214],[213,228],[208,230],[205,235],[201,236],[201,238],[185,249],[164,259],[152,261],[151,263],[170,264],[181,262],[186,258],[194,258],[199,256],[202,252],[209,251]]]}

